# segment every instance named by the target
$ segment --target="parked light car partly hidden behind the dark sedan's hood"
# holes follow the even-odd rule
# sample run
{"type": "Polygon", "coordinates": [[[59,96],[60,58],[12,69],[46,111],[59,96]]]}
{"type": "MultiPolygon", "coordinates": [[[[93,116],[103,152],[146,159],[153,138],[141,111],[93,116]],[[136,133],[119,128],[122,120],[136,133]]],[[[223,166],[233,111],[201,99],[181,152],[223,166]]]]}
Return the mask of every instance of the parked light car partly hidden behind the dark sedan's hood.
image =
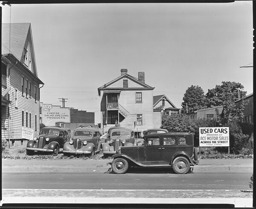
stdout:
{"type": "Polygon", "coordinates": [[[122,146],[133,146],[137,143],[134,138],[134,131],[129,128],[115,127],[109,131],[109,136],[102,145],[104,157],[116,154],[122,146]]]}

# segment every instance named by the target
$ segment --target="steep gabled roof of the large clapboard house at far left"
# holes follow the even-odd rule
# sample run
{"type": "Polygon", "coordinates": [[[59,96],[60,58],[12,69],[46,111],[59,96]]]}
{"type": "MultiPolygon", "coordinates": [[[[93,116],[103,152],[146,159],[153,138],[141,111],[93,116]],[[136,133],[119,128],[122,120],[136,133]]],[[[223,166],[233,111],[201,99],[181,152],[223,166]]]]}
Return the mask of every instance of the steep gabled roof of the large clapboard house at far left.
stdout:
{"type": "Polygon", "coordinates": [[[26,41],[29,43],[31,53],[32,73],[37,77],[30,23],[2,23],[2,55],[12,54],[18,61],[22,62],[26,41]]]}

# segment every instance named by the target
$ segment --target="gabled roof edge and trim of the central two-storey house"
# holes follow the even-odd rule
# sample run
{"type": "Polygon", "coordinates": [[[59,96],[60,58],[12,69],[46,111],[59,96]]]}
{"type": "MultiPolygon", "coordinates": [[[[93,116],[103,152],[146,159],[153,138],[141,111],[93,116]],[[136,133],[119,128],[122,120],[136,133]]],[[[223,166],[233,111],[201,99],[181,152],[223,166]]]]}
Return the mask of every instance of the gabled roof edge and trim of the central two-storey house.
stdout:
{"type": "Polygon", "coordinates": [[[108,88],[111,84],[115,83],[116,81],[119,81],[121,80],[122,78],[128,78],[130,79],[131,81],[134,81],[135,83],[137,84],[140,84],[141,88],[143,89],[154,89],[154,87],[151,87],[149,86],[148,84],[145,84],[141,81],[139,81],[138,78],[135,78],[134,76],[131,76],[131,75],[128,75],[128,74],[123,74],[123,75],[120,75],[119,77],[113,79],[112,81],[109,81],[108,83],[102,85],[101,87],[98,88],[98,93],[99,93],[99,96],[100,96],[100,91],[101,90],[121,90],[121,89],[131,89],[131,88],[108,88]]]}

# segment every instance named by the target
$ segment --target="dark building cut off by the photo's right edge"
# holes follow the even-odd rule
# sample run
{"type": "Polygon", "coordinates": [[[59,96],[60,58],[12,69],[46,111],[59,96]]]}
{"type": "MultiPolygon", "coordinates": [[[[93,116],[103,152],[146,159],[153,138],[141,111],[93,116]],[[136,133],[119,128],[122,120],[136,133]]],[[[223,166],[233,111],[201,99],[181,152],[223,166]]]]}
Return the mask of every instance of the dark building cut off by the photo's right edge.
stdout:
{"type": "MultiPolygon", "coordinates": [[[[242,99],[237,100],[236,108],[239,107],[241,104],[242,99]]],[[[249,95],[244,97],[244,101],[247,102],[247,104],[244,107],[244,122],[250,122],[253,123],[253,93],[250,93],[249,95]]]]}

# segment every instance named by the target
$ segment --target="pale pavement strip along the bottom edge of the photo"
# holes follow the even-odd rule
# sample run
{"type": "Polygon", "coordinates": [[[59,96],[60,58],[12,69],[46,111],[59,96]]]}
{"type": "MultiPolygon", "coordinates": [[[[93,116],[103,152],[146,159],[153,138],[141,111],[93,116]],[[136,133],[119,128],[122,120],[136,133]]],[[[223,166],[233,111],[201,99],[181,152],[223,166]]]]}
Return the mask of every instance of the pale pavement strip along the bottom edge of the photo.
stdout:
{"type": "MultiPolygon", "coordinates": [[[[236,208],[251,208],[253,206],[252,198],[96,198],[96,197],[4,197],[0,203],[3,204],[192,204],[210,205],[210,204],[233,204],[236,208]]],[[[73,205],[76,206],[76,205],[73,205]]]]}

